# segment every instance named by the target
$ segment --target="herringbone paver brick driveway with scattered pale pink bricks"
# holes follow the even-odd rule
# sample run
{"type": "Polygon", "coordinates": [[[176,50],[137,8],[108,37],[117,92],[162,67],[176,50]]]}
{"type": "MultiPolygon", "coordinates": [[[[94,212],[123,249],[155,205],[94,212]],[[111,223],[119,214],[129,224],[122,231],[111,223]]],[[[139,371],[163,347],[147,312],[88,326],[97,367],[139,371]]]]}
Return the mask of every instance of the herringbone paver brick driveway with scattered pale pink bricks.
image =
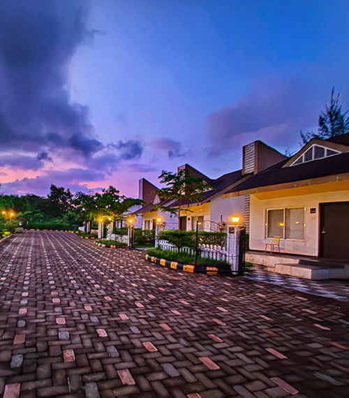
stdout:
{"type": "Polygon", "coordinates": [[[0,395],[349,397],[348,303],[69,233],[0,245],[0,395]]]}

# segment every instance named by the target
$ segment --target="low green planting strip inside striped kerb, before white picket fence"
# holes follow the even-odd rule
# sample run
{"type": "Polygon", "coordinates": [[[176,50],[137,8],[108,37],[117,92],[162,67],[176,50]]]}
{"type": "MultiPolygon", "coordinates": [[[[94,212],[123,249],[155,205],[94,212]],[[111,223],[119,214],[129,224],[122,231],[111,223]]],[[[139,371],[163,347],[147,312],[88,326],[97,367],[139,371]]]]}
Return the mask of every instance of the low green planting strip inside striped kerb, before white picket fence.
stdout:
{"type": "MultiPolygon", "coordinates": [[[[192,264],[195,265],[195,256],[191,256],[188,253],[162,250],[162,249],[148,249],[147,254],[158,258],[165,258],[165,260],[177,261],[181,264],[192,264]]],[[[226,261],[214,260],[214,258],[201,258],[198,257],[198,265],[204,265],[206,267],[217,267],[219,270],[230,270],[231,265],[226,261]]]]}

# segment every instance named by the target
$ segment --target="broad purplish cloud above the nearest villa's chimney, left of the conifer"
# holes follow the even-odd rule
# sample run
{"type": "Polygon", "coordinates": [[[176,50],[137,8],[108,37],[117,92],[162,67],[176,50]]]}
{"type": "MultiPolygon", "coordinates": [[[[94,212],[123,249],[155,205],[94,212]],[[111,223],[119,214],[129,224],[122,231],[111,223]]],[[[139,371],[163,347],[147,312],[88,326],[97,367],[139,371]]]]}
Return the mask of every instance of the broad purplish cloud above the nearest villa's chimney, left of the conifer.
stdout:
{"type": "Polygon", "coordinates": [[[300,80],[262,84],[208,117],[209,156],[236,149],[253,140],[285,145],[299,140],[299,130],[316,124],[320,110],[314,87],[300,80]]]}

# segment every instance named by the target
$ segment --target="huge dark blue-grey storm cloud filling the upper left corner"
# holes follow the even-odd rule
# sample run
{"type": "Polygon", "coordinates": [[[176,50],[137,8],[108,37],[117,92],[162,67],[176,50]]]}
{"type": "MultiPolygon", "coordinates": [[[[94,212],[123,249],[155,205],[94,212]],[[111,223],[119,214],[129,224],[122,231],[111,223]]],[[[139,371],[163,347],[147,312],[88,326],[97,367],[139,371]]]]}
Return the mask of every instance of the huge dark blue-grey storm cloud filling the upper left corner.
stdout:
{"type": "Polygon", "coordinates": [[[103,147],[66,88],[70,59],[94,35],[86,19],[87,1],[1,1],[0,149],[88,158],[103,147]]]}

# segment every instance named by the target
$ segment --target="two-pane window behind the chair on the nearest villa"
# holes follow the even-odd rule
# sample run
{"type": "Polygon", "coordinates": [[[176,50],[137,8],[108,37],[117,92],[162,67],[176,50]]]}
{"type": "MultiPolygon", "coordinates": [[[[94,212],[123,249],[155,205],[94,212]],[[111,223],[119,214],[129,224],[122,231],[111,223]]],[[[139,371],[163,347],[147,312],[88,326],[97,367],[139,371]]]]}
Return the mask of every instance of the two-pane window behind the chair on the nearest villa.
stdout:
{"type": "Polygon", "coordinates": [[[304,239],[304,207],[267,209],[266,237],[304,239]]]}

